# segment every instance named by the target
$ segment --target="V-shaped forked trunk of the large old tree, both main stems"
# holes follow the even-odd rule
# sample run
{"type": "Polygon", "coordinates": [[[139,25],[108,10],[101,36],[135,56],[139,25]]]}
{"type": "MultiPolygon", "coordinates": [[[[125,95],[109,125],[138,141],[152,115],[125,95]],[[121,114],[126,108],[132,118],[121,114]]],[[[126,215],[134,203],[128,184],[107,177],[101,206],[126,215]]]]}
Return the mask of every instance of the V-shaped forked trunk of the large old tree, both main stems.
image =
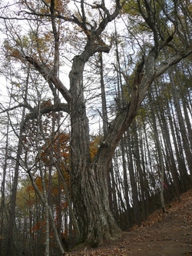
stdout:
{"type": "MultiPolygon", "coordinates": [[[[81,55],[74,57],[69,75],[71,94],[71,186],[74,208],[81,231],[81,240],[88,241],[92,246],[98,246],[106,239],[117,238],[121,235],[121,230],[114,221],[108,203],[107,171],[111,166],[114,150],[124,131],[127,131],[137,115],[137,109],[145,98],[147,88],[154,81],[155,75],[161,75],[170,65],[184,58],[184,55],[171,57],[166,63],[155,68],[157,49],[151,49],[145,63],[144,76],[144,59],[137,67],[130,103],[122,108],[114,118],[107,135],[101,142],[98,154],[91,162],[83,85],[84,64],[94,54],[91,47],[90,42],[90,45],[86,45],[81,55]]],[[[140,224],[140,220],[137,222],[140,224]]]]}

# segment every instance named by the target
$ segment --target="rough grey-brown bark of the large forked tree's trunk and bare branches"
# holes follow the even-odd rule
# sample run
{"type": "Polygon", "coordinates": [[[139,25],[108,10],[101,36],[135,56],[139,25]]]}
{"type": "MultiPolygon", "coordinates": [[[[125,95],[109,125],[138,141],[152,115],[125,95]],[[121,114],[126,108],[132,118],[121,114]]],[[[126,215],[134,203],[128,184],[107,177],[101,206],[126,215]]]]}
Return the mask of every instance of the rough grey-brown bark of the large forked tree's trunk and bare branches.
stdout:
{"type": "MultiPolygon", "coordinates": [[[[115,223],[111,214],[108,203],[108,185],[107,171],[111,167],[111,159],[114,155],[114,150],[121,140],[124,131],[131,125],[134,117],[137,115],[137,109],[147,94],[147,89],[158,75],[164,73],[171,65],[180,62],[182,58],[186,58],[192,53],[191,45],[186,45],[182,52],[174,51],[172,48],[171,55],[164,61],[160,61],[158,55],[161,49],[170,45],[173,40],[173,35],[168,38],[161,36],[161,31],[158,32],[158,17],[155,18],[155,12],[146,1],[141,5],[137,0],[139,10],[144,18],[144,22],[154,34],[154,47],[146,53],[145,58],[137,66],[135,72],[134,83],[131,91],[131,98],[127,105],[124,105],[118,111],[116,118],[111,122],[108,133],[105,135],[101,146],[98,149],[98,154],[91,161],[89,151],[89,128],[88,117],[86,115],[84,101],[84,85],[83,71],[84,65],[89,58],[96,52],[109,52],[110,47],[105,45],[101,39],[101,33],[109,22],[116,18],[121,10],[121,1],[115,0],[114,12],[110,14],[104,1],[101,4],[94,3],[92,6],[97,8],[101,15],[101,22],[94,25],[88,25],[86,20],[84,1],[81,0],[81,12],[78,9],[80,19],[74,15],[63,17],[58,12],[55,12],[55,1],[51,0],[50,14],[41,14],[41,18],[50,18],[53,35],[55,38],[55,58],[54,65],[41,65],[33,56],[26,56],[24,52],[14,57],[19,58],[23,62],[29,62],[34,68],[48,81],[50,84],[58,88],[61,95],[65,98],[69,106],[71,116],[71,186],[73,192],[73,201],[75,213],[78,216],[79,229],[81,231],[81,241],[87,241],[92,246],[101,244],[102,241],[114,239],[121,235],[121,230],[115,223]],[[144,9],[143,8],[144,5],[144,9]],[[145,12],[147,10],[147,12],[145,12]],[[62,81],[57,76],[59,62],[59,47],[58,47],[58,31],[55,26],[55,18],[73,22],[81,28],[81,31],[87,35],[87,42],[80,55],[73,58],[70,78],[70,90],[68,90],[62,81]],[[160,34],[160,35],[159,35],[160,34]],[[159,64],[161,62],[161,64],[159,64]]],[[[155,10],[154,10],[155,11],[155,10]]],[[[31,10],[30,10],[31,12],[31,10]]],[[[31,15],[40,16],[35,10],[31,15]]],[[[177,39],[178,40],[178,39],[177,39]]],[[[161,59],[163,55],[161,56],[161,59]]]]}

